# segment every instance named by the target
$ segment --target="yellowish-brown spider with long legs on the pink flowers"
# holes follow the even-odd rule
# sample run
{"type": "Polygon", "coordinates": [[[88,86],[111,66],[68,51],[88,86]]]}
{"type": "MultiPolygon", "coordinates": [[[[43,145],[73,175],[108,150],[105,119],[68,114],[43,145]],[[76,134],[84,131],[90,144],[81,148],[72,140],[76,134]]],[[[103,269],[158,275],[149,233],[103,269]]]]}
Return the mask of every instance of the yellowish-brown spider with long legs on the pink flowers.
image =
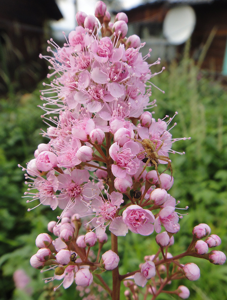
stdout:
{"type": "MultiPolygon", "coordinates": [[[[140,176],[142,175],[143,171],[146,169],[148,164],[151,163],[151,166],[155,167],[155,170],[156,170],[157,176],[158,176],[158,180],[159,180],[159,184],[160,184],[160,187],[162,188],[161,180],[160,180],[159,173],[158,173],[158,164],[159,164],[159,160],[160,160],[160,161],[167,161],[168,162],[166,170],[170,169],[170,171],[171,171],[171,180],[172,180],[173,170],[172,170],[172,166],[171,166],[171,160],[169,159],[168,156],[158,155],[158,151],[162,148],[164,140],[162,140],[161,145],[157,149],[156,149],[156,147],[157,147],[158,141],[156,141],[156,140],[154,140],[155,144],[153,143],[153,141],[151,141],[149,139],[144,139],[142,141],[139,141],[139,140],[131,138],[131,140],[134,140],[136,142],[141,143],[142,147],[144,149],[144,151],[139,152],[137,154],[137,156],[140,155],[140,154],[146,153],[146,157],[142,159],[142,161],[145,163],[145,166],[144,166],[142,172],[139,174],[138,179],[140,178],[140,176]]],[[[165,172],[166,170],[164,170],[163,172],[165,172]]]]}

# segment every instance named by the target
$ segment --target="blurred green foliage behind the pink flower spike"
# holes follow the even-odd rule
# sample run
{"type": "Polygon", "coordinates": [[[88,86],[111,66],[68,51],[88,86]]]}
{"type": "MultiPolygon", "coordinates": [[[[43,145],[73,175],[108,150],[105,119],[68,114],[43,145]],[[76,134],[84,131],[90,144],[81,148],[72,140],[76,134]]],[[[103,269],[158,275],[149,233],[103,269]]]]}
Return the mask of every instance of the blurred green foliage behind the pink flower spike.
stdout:
{"type": "MultiPolygon", "coordinates": [[[[227,93],[226,87],[217,81],[206,78],[197,69],[194,61],[185,57],[179,64],[172,62],[167,70],[153,79],[155,85],[165,91],[162,94],[153,88],[152,99],[157,99],[154,117],[163,118],[166,114],[178,115],[172,128],[173,137],[191,137],[191,140],[174,143],[173,149],[185,155],[170,154],[173,167],[174,185],[169,193],[180,200],[179,207],[189,206],[188,215],[180,220],[181,230],[175,235],[175,244],[170,251],[173,255],[186,250],[192,238],[192,229],[198,223],[207,223],[222,239],[218,247],[227,253],[227,93]]],[[[49,220],[55,220],[56,211],[48,207],[38,207],[27,212],[32,204],[21,198],[26,190],[24,176],[17,164],[25,166],[34,158],[33,153],[39,143],[47,143],[40,135],[45,129],[37,107],[41,104],[39,89],[32,94],[9,95],[0,101],[0,299],[80,299],[75,285],[69,289],[59,289],[53,294],[52,285],[42,280],[51,276],[41,274],[29,264],[36,253],[35,238],[46,232],[49,220]],[[24,269],[31,277],[29,284],[32,294],[14,289],[12,279],[16,269],[24,269]]],[[[34,206],[34,205],[33,205],[34,206]]],[[[180,211],[186,213],[186,211],[180,211]]],[[[105,245],[108,250],[110,241],[105,245]]],[[[157,251],[157,245],[150,237],[130,232],[119,238],[121,274],[138,269],[145,255],[157,251]]],[[[182,280],[173,282],[169,289],[179,284],[189,287],[190,299],[221,300],[227,298],[227,266],[213,265],[208,261],[185,258],[182,263],[192,261],[199,265],[201,278],[196,282],[182,280]]],[[[110,282],[111,274],[105,279],[110,282]]],[[[122,285],[121,299],[124,299],[122,285]]],[[[176,295],[161,294],[158,299],[177,299],[176,295]]],[[[97,298],[98,299],[98,298],[97,298]]]]}

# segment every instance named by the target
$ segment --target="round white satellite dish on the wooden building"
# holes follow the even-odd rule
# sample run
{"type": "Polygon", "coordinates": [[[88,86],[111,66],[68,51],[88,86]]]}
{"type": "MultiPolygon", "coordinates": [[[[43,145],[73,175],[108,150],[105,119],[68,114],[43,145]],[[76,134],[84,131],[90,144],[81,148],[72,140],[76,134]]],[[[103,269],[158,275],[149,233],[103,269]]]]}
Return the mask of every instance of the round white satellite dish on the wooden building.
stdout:
{"type": "Polygon", "coordinates": [[[166,14],[163,23],[163,34],[173,45],[180,45],[190,38],[196,25],[196,13],[192,7],[178,6],[166,14]]]}

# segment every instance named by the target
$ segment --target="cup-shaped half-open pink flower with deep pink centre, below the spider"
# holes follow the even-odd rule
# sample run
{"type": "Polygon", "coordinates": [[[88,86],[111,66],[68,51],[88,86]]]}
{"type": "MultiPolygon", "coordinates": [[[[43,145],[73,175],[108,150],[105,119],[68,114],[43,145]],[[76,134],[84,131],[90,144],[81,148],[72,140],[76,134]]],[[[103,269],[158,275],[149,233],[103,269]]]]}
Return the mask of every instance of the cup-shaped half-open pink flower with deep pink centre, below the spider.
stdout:
{"type": "Polygon", "coordinates": [[[150,235],[154,231],[154,215],[139,205],[130,205],[122,213],[123,221],[128,228],[141,235],[150,235]]]}

